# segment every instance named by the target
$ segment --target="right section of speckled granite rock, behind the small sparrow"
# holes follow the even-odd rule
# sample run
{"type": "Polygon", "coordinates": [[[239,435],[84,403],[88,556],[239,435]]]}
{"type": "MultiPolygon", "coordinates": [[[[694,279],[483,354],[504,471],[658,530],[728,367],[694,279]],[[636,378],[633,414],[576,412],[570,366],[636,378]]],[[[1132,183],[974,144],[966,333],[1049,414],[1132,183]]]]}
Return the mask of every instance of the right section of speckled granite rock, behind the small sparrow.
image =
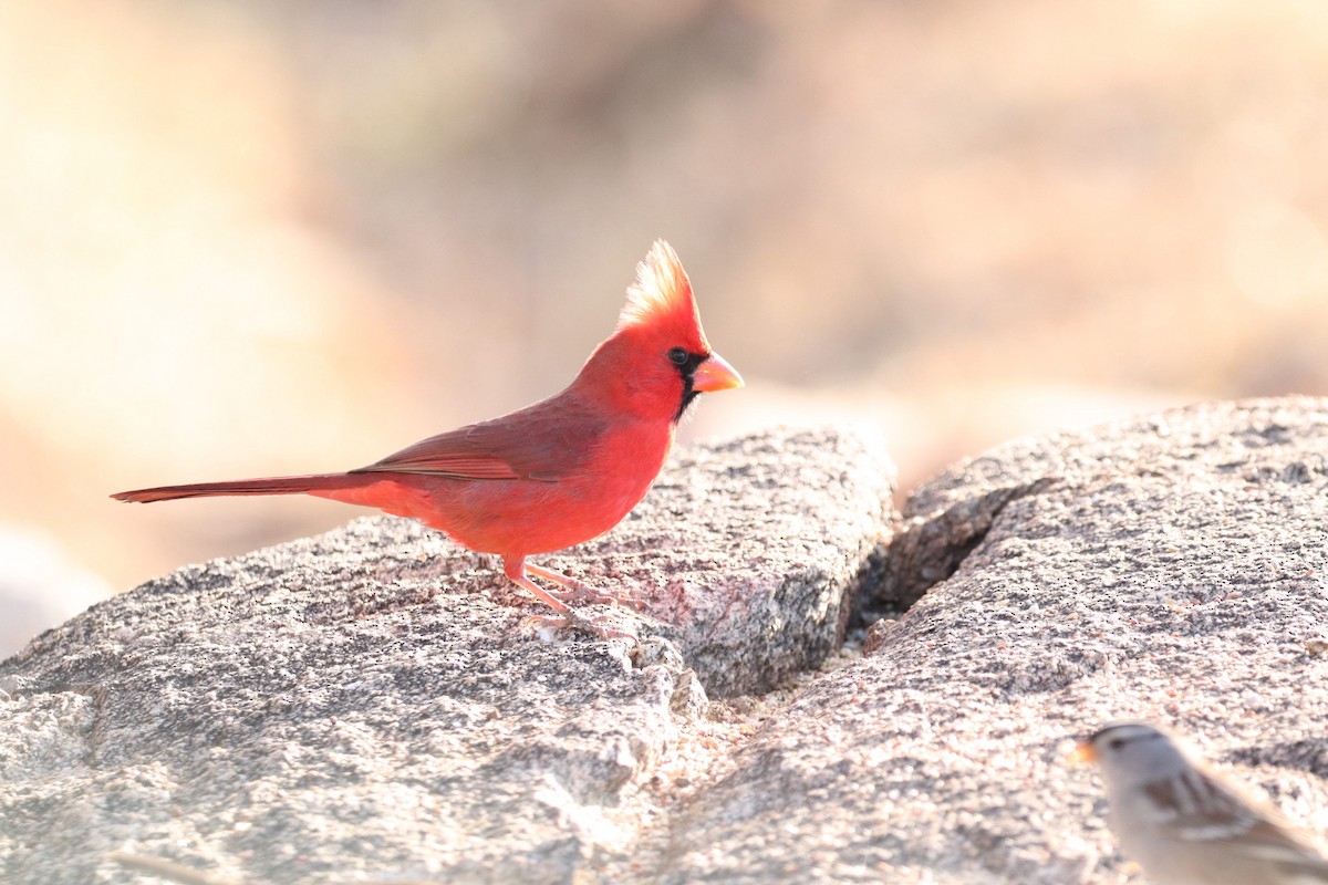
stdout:
{"type": "Polygon", "coordinates": [[[1328,833],[1328,401],[1020,441],[920,488],[872,630],[673,824],[664,882],[1142,881],[1069,738],[1147,718],[1328,833]]]}

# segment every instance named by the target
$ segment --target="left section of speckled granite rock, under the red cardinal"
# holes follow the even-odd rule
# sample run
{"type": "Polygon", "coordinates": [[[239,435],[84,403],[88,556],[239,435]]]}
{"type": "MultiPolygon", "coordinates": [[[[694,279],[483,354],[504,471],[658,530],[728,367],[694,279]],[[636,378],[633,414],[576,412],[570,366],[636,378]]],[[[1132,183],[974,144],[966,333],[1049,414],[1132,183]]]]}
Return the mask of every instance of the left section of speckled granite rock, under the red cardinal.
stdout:
{"type": "Polygon", "coordinates": [[[215,882],[584,881],[633,856],[679,747],[718,746],[701,682],[764,690],[838,645],[890,482],[833,431],[679,452],[544,560],[640,598],[600,612],[635,647],[522,630],[543,609],[490,557],[389,517],[94,606],[0,663],[0,881],[143,881],[116,852],[215,882]]]}

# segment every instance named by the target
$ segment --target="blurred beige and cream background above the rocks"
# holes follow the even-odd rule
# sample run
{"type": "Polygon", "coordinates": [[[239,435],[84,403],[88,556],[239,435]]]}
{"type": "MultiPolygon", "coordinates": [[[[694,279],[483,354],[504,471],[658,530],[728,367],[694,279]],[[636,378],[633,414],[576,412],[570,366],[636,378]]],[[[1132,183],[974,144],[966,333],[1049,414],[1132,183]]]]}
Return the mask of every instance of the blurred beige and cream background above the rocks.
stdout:
{"type": "Polygon", "coordinates": [[[344,523],[127,507],[559,390],[673,243],[746,377],[903,487],[1016,435],[1328,393],[1328,4],[0,5],[0,654],[344,523]]]}

